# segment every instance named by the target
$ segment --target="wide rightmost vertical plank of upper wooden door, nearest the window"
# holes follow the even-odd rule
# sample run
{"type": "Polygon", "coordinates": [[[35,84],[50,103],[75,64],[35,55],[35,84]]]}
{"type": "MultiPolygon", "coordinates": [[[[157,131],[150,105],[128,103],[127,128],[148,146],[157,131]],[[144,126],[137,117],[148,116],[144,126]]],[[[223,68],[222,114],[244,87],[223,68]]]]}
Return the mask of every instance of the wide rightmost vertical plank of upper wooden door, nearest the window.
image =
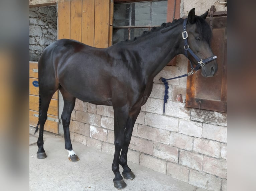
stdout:
{"type": "Polygon", "coordinates": [[[95,0],[94,47],[109,45],[110,0],[95,0]]]}

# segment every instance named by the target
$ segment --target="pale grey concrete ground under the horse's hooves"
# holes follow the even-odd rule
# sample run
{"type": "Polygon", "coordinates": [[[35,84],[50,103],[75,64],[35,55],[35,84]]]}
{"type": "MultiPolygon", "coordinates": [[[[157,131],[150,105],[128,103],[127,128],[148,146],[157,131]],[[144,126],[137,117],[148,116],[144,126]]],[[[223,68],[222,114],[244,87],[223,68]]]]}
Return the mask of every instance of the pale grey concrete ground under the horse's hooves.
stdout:
{"type": "MultiPolygon", "coordinates": [[[[72,142],[80,161],[70,162],[64,149],[64,138],[44,132],[47,157],[37,159],[35,128],[29,127],[29,190],[30,191],[117,191],[111,170],[113,155],[72,142]]],[[[38,134],[38,133],[37,133],[38,134]]],[[[125,191],[206,191],[132,162],[129,167],[134,180],[125,180],[125,191]]],[[[120,171],[122,167],[120,167],[120,171]]],[[[122,172],[122,171],[121,171],[122,172]]]]}

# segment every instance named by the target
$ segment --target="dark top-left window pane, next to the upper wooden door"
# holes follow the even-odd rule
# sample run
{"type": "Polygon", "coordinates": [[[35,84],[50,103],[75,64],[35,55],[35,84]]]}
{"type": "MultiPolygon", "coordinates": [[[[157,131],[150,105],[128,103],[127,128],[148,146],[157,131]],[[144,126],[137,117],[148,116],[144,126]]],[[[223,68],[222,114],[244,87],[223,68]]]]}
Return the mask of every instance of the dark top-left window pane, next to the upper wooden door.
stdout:
{"type": "Polygon", "coordinates": [[[114,5],[114,27],[130,25],[130,3],[114,5]]]}

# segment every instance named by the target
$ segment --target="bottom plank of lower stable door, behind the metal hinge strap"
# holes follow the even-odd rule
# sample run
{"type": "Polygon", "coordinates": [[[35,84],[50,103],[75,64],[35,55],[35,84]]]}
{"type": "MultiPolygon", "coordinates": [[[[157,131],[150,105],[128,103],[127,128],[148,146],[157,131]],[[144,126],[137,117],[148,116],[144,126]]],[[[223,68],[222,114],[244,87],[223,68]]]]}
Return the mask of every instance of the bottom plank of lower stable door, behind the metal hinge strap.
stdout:
{"type": "MultiPolygon", "coordinates": [[[[34,114],[38,115],[39,113],[37,111],[29,110],[29,125],[32,127],[36,127],[38,122],[38,117],[35,117],[34,114]]],[[[57,119],[57,117],[53,115],[48,115],[48,117],[57,119]]],[[[58,123],[55,121],[46,120],[44,124],[44,130],[58,134],[58,123]]]]}

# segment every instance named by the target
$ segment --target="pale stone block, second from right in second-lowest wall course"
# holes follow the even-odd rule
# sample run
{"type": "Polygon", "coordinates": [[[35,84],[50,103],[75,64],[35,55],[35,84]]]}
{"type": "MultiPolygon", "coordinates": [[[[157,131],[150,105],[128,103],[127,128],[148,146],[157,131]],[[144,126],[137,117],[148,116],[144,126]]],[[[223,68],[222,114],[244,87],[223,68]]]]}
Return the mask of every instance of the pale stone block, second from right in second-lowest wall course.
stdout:
{"type": "Polygon", "coordinates": [[[203,155],[182,150],[179,154],[179,164],[201,171],[203,166],[203,155]]]}

